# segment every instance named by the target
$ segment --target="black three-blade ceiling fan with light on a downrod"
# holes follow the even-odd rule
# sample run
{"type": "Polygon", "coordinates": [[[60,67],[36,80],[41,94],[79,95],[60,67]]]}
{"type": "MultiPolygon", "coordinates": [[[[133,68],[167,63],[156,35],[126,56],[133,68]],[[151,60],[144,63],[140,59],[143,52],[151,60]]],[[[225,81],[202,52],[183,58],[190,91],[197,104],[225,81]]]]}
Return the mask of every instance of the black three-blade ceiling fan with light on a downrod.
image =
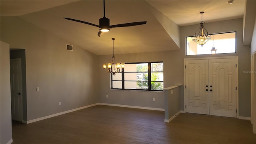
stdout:
{"type": "Polygon", "coordinates": [[[117,28],[117,27],[126,27],[126,26],[137,26],[137,25],[141,25],[141,24],[146,24],[146,21],[143,22],[131,22],[131,23],[125,23],[125,24],[116,24],[116,25],[111,25],[110,26],[110,20],[108,18],[105,17],[105,0],[103,0],[103,9],[104,9],[104,16],[103,18],[100,18],[100,24],[96,25],[96,24],[92,24],[90,22],[84,22],[82,20],[75,20],[72,18],[65,18],[66,20],[72,20],[75,22],[81,22],[84,24],[89,24],[91,26],[96,26],[98,28],[100,28],[100,31],[98,32],[98,36],[100,37],[103,32],[108,32],[110,30],[110,28],[117,28]]]}

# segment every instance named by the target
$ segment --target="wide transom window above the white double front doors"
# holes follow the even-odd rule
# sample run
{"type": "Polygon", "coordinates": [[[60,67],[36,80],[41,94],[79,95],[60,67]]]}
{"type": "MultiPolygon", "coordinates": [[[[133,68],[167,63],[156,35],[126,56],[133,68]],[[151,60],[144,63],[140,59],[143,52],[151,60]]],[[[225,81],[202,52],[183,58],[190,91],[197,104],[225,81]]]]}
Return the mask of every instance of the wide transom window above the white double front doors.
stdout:
{"type": "Polygon", "coordinates": [[[186,55],[224,54],[236,52],[236,32],[212,34],[212,38],[203,46],[186,37],[186,55]],[[215,48],[213,48],[215,47],[215,48]]]}

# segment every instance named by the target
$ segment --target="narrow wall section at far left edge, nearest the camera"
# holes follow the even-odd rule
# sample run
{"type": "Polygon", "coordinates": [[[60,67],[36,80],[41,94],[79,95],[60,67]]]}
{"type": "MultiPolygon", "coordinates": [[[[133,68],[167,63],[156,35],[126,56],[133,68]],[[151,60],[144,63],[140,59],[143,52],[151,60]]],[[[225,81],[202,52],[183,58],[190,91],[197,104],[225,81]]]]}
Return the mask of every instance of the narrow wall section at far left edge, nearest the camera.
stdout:
{"type": "Polygon", "coordinates": [[[9,44],[0,46],[0,144],[12,142],[9,44]]]}

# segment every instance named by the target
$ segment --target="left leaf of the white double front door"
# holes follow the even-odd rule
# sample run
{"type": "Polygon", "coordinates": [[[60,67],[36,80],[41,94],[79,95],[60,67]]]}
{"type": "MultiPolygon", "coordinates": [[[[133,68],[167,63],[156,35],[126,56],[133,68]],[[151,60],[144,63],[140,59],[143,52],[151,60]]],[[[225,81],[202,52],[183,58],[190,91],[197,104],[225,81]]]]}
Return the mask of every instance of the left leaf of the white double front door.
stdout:
{"type": "Polygon", "coordinates": [[[208,60],[186,60],[186,112],[209,114],[208,60]]]}

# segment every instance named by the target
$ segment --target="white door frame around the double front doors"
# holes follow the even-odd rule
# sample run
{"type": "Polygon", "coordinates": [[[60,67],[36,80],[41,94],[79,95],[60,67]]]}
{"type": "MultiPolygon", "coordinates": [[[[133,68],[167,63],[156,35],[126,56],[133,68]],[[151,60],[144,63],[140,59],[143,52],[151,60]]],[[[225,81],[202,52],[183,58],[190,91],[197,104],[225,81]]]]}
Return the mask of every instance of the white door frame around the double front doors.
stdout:
{"type": "MultiPolygon", "coordinates": [[[[210,59],[223,59],[223,58],[236,58],[236,118],[239,118],[239,88],[238,88],[238,56],[223,56],[223,57],[206,57],[206,58],[184,58],[183,61],[183,78],[184,85],[186,84],[186,60],[210,60],[210,59]]],[[[184,113],[186,113],[186,88],[184,86],[184,113]]]]}

